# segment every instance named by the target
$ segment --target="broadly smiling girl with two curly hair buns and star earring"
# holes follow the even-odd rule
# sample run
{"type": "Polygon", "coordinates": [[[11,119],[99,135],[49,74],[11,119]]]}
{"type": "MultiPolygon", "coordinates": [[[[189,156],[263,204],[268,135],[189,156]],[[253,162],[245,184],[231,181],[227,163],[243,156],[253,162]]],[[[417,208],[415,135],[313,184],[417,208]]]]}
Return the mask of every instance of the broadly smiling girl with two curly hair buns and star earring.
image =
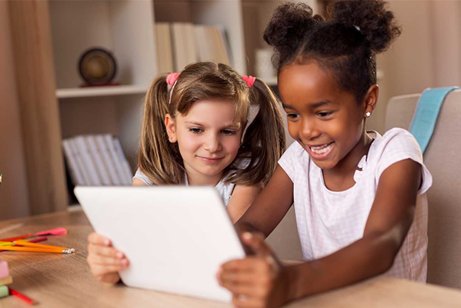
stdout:
{"type": "Polygon", "coordinates": [[[400,34],[383,1],[279,6],[264,33],[296,142],[236,226],[254,255],[221,266],[236,307],[285,302],[374,275],[425,282],[432,178],[406,130],[365,129],[378,101],[376,54],[400,34]],[[418,198],[417,198],[418,196],[418,198]],[[301,264],[264,243],[294,203],[301,264]]]}

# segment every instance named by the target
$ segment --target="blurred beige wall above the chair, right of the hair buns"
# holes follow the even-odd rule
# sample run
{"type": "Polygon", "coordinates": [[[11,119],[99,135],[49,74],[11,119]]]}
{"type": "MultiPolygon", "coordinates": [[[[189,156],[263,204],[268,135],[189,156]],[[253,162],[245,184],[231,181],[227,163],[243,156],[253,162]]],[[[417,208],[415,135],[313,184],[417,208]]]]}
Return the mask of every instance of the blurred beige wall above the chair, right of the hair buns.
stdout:
{"type": "Polygon", "coordinates": [[[461,1],[389,1],[402,25],[400,38],[378,56],[378,106],[367,128],[384,133],[392,96],[428,87],[461,85],[461,1]]]}

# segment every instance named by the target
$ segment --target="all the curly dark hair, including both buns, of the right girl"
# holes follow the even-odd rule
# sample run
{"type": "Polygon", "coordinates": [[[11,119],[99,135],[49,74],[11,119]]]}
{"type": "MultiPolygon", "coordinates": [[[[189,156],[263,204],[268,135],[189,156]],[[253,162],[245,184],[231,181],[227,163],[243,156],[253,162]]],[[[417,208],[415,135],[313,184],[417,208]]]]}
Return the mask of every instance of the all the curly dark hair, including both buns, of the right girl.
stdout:
{"type": "Polygon", "coordinates": [[[272,62],[278,71],[284,65],[315,60],[361,102],[376,83],[376,54],[401,32],[381,0],[333,2],[326,19],[304,3],[289,2],[275,10],[264,40],[274,47],[272,62]]]}

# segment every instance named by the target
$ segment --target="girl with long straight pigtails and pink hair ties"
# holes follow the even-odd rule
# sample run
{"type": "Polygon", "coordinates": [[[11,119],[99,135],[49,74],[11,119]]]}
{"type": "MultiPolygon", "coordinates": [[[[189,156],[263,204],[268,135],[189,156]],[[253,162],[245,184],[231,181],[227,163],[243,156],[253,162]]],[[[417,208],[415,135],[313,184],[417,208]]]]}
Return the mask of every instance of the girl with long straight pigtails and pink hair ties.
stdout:
{"type": "MultiPolygon", "coordinates": [[[[133,185],[212,185],[232,222],[260,193],[285,148],[281,108],[266,83],[213,62],[154,79],[140,139],[133,185]]],[[[129,266],[123,252],[97,233],[88,242],[93,275],[117,282],[129,266]]]]}

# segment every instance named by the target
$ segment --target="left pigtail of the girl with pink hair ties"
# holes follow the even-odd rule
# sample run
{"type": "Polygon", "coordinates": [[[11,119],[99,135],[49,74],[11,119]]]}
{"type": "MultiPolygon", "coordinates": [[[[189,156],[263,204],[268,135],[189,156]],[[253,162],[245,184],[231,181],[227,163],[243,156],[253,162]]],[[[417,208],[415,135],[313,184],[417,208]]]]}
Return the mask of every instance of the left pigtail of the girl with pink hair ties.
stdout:
{"type": "Polygon", "coordinates": [[[184,180],[183,160],[177,143],[168,141],[165,114],[169,113],[166,75],[156,77],[144,102],[138,167],[154,184],[179,184],[184,180]]]}

